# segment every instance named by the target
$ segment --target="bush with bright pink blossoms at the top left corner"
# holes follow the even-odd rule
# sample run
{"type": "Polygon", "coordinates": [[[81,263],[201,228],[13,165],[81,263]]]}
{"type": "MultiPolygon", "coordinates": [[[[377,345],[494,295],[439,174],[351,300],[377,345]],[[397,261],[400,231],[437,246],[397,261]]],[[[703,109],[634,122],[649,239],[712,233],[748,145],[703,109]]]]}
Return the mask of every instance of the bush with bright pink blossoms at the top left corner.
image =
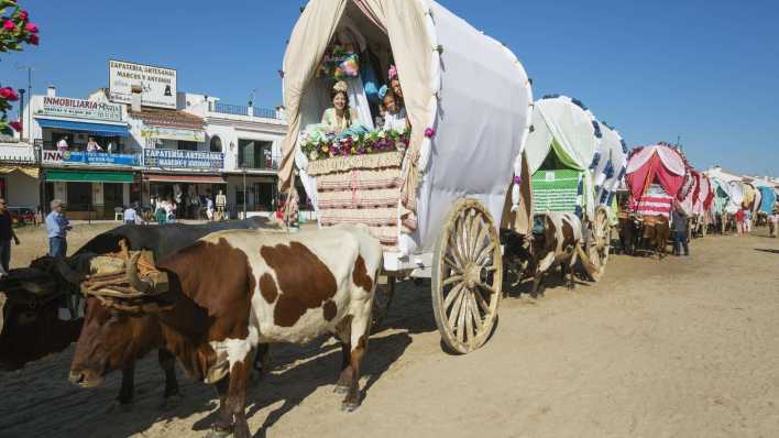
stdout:
{"type": "MultiPolygon", "coordinates": [[[[21,9],[17,0],[0,0],[0,53],[20,52],[24,44],[39,44],[37,25],[30,22],[30,14],[21,9]]],[[[17,100],[19,95],[13,88],[0,88],[0,133],[2,134],[11,135],[13,130],[22,129],[21,123],[8,121],[10,102],[17,100]]]]}

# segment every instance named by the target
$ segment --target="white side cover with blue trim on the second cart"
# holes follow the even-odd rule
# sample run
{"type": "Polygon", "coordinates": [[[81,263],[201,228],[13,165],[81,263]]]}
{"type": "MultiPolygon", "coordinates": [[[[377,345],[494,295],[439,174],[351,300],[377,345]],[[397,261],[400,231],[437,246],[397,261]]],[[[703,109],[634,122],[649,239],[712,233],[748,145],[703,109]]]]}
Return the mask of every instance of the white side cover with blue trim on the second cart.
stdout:
{"type": "Polygon", "coordinates": [[[592,176],[597,188],[595,200],[601,205],[610,205],[612,195],[617,191],[619,183],[625,177],[627,153],[624,141],[615,129],[602,122],[597,124],[601,129],[601,141],[597,147],[600,158],[592,176]]]}

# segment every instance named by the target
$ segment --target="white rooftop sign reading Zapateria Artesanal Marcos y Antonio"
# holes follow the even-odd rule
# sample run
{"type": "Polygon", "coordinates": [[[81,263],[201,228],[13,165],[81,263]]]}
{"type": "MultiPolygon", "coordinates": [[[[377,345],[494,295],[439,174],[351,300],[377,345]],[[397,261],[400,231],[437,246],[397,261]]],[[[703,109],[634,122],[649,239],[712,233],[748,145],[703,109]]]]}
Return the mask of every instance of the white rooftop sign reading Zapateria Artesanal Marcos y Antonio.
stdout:
{"type": "Polygon", "coordinates": [[[152,65],[108,62],[109,97],[132,103],[133,87],[141,89],[141,105],[176,109],[176,70],[152,65]]]}

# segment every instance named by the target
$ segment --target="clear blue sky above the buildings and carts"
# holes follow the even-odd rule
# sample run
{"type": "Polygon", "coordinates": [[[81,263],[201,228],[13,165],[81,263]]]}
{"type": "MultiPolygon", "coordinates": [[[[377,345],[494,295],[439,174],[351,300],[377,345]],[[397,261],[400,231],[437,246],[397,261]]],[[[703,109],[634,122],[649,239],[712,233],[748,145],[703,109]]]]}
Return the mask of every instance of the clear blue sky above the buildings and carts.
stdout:
{"type": "MultiPolygon", "coordinates": [[[[2,85],[69,97],[108,83],[108,59],[176,68],[178,88],[281,103],[290,0],[20,0],[41,46],[0,57],[2,85]]],[[[779,2],[441,0],[507,44],[537,97],[580,98],[630,145],[682,145],[693,166],[779,176],[779,2]]]]}

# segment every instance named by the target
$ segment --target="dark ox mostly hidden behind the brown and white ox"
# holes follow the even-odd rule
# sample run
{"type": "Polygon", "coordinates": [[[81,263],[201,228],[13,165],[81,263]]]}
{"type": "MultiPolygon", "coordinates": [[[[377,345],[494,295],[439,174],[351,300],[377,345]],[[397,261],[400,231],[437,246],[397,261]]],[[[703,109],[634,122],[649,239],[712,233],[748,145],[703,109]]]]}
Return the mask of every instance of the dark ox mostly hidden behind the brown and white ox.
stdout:
{"type": "MultiPolygon", "coordinates": [[[[78,339],[83,318],[61,320],[58,307],[64,296],[78,294],[75,291],[84,275],[89,274],[90,261],[98,255],[119,252],[121,242],[131,250],[150,250],[158,258],[175,253],[215,231],[265,226],[265,219],[197,226],[121,226],[96,236],[65,263],[42,258],[33,261],[30,267],[11,270],[9,276],[0,281],[0,292],[8,295],[1,304],[0,369],[18,370],[28,362],[64,350],[78,339]]],[[[158,360],[166,375],[165,397],[177,395],[175,358],[160,350],[158,360]]],[[[129,363],[122,372],[120,404],[132,403],[133,376],[134,368],[129,363]]]]}

